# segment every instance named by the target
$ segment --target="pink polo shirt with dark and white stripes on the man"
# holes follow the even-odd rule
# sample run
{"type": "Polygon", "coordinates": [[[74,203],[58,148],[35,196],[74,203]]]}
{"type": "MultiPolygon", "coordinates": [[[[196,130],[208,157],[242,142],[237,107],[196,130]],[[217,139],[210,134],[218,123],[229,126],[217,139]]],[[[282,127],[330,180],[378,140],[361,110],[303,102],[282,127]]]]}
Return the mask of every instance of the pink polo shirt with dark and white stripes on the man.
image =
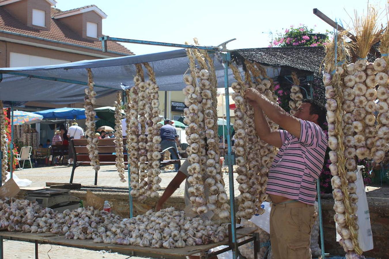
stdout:
{"type": "Polygon", "coordinates": [[[327,148],[327,137],[314,122],[300,120],[300,139],[279,130],[282,147],[270,167],[266,193],[314,204],[327,148]]]}

